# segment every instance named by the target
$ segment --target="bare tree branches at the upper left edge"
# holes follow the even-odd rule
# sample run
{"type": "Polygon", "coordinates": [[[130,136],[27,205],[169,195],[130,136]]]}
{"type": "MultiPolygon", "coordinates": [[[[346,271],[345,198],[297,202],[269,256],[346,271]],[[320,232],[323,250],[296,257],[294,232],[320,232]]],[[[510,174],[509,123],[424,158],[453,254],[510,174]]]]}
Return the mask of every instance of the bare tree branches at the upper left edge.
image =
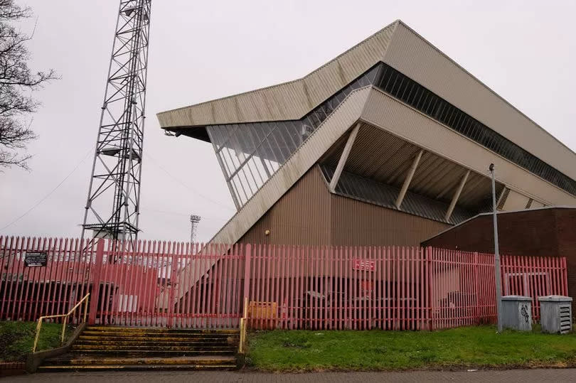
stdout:
{"type": "Polygon", "coordinates": [[[18,6],[14,0],[0,0],[0,168],[28,169],[31,156],[18,151],[36,138],[31,121],[26,121],[39,105],[31,92],[57,78],[53,70],[33,73],[28,68],[26,42],[32,36],[21,33],[13,23],[31,16],[30,8],[18,6]]]}

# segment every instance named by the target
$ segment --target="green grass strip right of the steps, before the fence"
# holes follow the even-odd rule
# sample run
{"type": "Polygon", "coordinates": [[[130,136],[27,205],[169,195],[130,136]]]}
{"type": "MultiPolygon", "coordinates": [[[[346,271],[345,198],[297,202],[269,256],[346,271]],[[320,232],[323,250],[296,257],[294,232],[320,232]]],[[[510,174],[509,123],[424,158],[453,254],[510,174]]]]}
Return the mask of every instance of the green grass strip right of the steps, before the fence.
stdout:
{"type": "Polygon", "coordinates": [[[576,365],[576,335],[492,326],[433,332],[260,331],[248,335],[247,366],[263,371],[562,367],[576,365]]]}

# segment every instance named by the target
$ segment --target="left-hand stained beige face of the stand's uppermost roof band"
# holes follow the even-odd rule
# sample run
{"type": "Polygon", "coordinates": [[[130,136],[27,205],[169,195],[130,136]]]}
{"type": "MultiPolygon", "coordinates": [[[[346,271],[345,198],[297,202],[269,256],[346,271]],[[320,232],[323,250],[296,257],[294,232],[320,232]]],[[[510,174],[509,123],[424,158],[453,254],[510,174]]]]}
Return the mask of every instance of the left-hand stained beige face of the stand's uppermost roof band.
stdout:
{"type": "Polygon", "coordinates": [[[384,57],[398,21],[299,80],[156,114],[162,128],[299,119],[384,57]]]}

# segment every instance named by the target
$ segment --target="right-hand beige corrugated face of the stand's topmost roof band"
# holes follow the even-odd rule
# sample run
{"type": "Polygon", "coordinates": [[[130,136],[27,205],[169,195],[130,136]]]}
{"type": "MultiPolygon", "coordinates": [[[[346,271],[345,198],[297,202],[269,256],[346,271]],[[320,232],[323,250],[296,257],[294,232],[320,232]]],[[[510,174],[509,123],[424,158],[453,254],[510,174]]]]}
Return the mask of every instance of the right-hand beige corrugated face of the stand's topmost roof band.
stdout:
{"type": "Polygon", "coordinates": [[[405,24],[395,29],[383,61],[576,179],[573,151],[405,24]]]}

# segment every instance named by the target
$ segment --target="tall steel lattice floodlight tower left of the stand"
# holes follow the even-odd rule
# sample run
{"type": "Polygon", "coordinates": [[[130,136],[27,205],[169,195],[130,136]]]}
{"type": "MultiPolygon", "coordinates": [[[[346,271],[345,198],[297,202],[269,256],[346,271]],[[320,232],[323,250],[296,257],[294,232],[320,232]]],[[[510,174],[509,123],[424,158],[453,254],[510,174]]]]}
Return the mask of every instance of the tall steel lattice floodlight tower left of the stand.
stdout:
{"type": "Polygon", "coordinates": [[[138,236],[150,9],[151,0],[120,1],[82,238],[138,236]]]}

